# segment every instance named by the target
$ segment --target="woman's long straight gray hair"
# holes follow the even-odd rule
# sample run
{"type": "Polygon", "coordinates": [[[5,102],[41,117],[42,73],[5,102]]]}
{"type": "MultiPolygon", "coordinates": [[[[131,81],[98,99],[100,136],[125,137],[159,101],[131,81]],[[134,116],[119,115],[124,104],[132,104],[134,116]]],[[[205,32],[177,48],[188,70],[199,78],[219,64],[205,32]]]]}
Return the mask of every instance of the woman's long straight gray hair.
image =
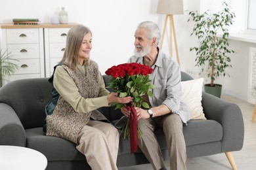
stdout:
{"type": "MultiPolygon", "coordinates": [[[[79,48],[83,41],[83,37],[85,37],[87,33],[91,33],[91,30],[84,25],[75,25],[70,28],[66,39],[65,52],[60,63],[64,63],[65,65],[68,65],[68,67],[76,69],[78,64],[79,48]]],[[[87,64],[89,64],[89,59],[87,64]]]]}

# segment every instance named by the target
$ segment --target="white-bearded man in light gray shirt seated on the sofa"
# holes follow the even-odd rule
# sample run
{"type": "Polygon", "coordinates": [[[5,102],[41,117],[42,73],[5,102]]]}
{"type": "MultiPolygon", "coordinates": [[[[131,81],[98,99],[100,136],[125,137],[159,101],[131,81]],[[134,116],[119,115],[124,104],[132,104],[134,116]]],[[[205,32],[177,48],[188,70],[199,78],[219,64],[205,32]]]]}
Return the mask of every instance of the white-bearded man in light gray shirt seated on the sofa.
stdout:
{"type": "MultiPolygon", "coordinates": [[[[186,169],[186,144],[182,132],[183,125],[190,118],[188,108],[181,101],[181,70],[179,64],[161,52],[158,44],[161,32],[154,22],[142,22],[135,31],[135,52],[129,63],[141,63],[154,69],[150,80],[156,88],[154,97],[144,95],[143,100],[150,109],[135,108],[138,124],[142,131],[139,148],[154,169],[165,169],[161,149],[154,135],[156,128],[163,128],[169,151],[171,170],[186,169]]],[[[125,116],[130,112],[121,108],[125,116]]]]}

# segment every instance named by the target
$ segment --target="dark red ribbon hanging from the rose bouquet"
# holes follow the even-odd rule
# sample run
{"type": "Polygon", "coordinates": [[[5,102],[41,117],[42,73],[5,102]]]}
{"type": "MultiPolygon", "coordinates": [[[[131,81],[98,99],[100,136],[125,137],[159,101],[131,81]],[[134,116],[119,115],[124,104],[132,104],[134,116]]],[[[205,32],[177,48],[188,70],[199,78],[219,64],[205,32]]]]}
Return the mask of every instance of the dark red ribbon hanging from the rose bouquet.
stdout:
{"type": "Polygon", "coordinates": [[[131,110],[129,117],[129,136],[130,136],[130,148],[131,154],[138,151],[138,116],[137,111],[133,107],[133,103],[127,105],[127,110],[131,110]]]}

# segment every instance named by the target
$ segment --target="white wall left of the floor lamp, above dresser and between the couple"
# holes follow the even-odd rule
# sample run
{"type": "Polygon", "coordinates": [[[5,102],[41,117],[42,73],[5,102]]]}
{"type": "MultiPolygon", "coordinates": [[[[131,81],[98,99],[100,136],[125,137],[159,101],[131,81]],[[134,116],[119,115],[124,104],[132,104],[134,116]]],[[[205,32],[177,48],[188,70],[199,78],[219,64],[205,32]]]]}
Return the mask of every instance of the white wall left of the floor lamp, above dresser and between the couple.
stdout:
{"type": "Polygon", "coordinates": [[[134,31],[139,22],[161,24],[163,20],[156,14],[157,0],[0,0],[0,4],[0,23],[11,23],[12,18],[39,18],[42,23],[50,23],[54,12],[65,7],[69,22],[87,25],[93,32],[91,58],[102,73],[133,54],[134,31]]]}

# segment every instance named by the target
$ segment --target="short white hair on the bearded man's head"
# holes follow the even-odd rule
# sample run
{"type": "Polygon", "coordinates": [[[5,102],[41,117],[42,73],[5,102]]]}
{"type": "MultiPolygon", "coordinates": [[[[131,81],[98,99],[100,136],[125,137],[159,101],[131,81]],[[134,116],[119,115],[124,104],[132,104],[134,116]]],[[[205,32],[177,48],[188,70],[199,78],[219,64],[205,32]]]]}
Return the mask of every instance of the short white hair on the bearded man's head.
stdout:
{"type": "Polygon", "coordinates": [[[148,31],[148,39],[156,37],[156,46],[159,45],[161,40],[161,31],[158,27],[158,24],[150,21],[145,21],[140,23],[137,29],[146,29],[148,31]]]}

